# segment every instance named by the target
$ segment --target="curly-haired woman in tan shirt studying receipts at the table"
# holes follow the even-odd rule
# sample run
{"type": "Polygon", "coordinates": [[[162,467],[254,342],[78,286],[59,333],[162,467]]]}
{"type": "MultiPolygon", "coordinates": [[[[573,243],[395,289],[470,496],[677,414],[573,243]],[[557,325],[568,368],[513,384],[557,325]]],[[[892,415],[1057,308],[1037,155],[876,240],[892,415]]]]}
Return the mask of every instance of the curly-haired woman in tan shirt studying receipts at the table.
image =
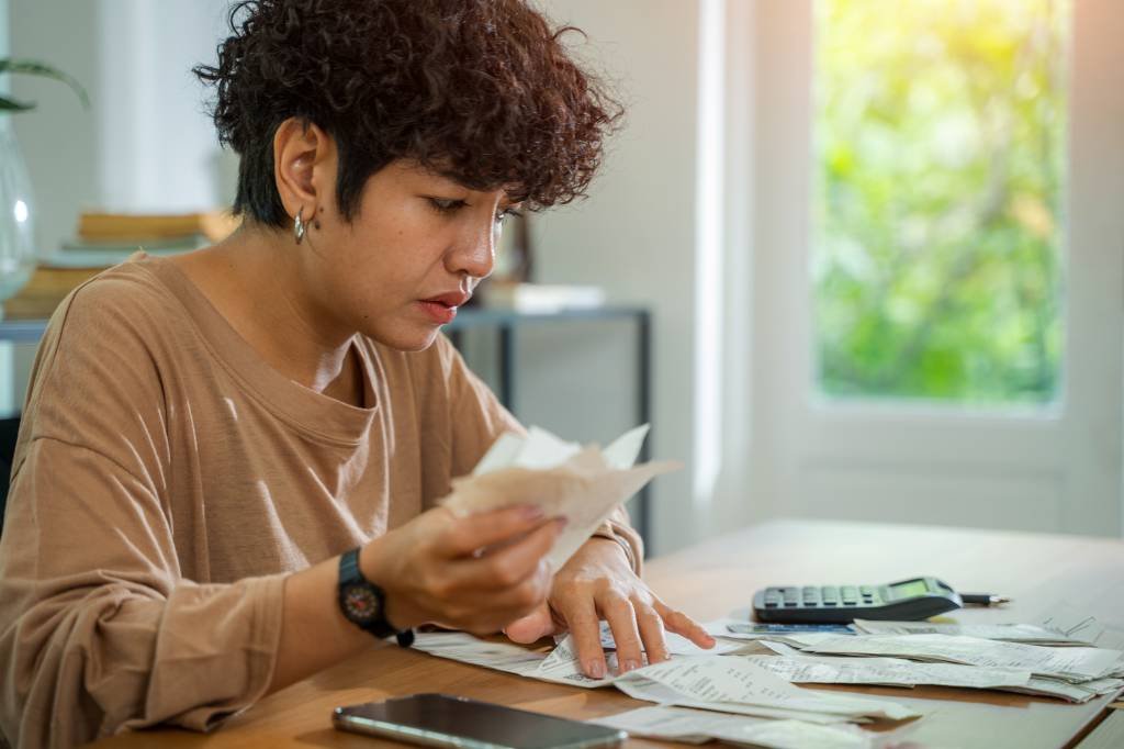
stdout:
{"type": "Polygon", "coordinates": [[[216,66],[242,228],[76,289],[36,360],[0,541],[2,730],[206,730],[433,622],[583,669],[713,641],[638,577],[623,514],[437,506],[518,424],[439,335],[504,217],[582,193],[617,106],[518,0],[261,0],[216,66]]]}

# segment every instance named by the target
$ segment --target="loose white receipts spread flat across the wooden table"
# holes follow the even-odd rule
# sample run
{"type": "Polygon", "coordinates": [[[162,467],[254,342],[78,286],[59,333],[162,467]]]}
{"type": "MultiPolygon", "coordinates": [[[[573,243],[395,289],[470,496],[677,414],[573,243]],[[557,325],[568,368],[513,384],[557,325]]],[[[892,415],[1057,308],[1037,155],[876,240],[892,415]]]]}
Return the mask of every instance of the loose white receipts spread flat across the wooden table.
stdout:
{"type": "Polygon", "coordinates": [[[1108,633],[1088,619],[1082,620],[1081,632],[1055,624],[1057,617],[1039,625],[986,626],[860,621],[841,634],[800,626],[746,632],[744,621],[719,620],[706,625],[716,637],[714,649],[704,650],[669,633],[670,660],[623,675],[617,674],[611,632],[602,625],[610,673],[602,679],[581,671],[570,635],[553,649],[531,649],[461,632],[435,632],[419,634],[415,647],[544,682],[613,686],[659,705],[595,721],[635,736],[696,743],[719,739],[772,749],[876,749],[900,739],[912,725],[870,733],[847,723],[903,721],[922,713],[890,700],[796,685],[941,685],[1075,703],[1124,689],[1120,649],[1124,635],[1108,633]]]}

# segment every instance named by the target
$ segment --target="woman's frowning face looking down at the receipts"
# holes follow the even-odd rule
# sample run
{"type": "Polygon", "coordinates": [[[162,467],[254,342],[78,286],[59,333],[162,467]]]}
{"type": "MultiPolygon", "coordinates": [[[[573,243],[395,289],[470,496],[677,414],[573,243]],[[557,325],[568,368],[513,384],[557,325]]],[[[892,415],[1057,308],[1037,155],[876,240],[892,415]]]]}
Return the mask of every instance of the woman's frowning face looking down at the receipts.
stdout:
{"type": "Polygon", "coordinates": [[[309,229],[301,253],[320,312],[396,349],[425,349],[491,273],[511,208],[506,193],[396,161],[368,180],[347,224],[336,211],[335,174],[327,177],[332,193],[306,217],[320,227],[309,229]]]}

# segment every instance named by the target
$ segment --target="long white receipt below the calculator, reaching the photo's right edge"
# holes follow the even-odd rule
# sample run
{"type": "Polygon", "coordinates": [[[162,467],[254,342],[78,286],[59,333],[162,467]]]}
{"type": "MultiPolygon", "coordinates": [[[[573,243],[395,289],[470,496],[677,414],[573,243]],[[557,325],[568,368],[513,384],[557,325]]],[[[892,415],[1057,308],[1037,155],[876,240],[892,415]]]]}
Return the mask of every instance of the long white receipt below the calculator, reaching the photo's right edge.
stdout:
{"type": "Polygon", "coordinates": [[[1111,675],[1122,655],[1099,648],[1045,648],[950,634],[841,637],[806,650],[850,656],[897,656],[967,664],[986,668],[1026,669],[1037,676],[1084,682],[1111,675]]]}

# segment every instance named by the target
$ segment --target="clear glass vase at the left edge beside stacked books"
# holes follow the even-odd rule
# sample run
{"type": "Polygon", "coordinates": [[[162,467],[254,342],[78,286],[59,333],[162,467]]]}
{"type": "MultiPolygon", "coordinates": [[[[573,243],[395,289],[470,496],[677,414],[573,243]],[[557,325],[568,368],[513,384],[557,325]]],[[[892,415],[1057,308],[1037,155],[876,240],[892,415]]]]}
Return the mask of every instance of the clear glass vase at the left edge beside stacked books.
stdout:
{"type": "Polygon", "coordinates": [[[34,208],[31,180],[16,128],[10,115],[0,114],[0,319],[3,301],[22,289],[35,272],[34,208]]]}

